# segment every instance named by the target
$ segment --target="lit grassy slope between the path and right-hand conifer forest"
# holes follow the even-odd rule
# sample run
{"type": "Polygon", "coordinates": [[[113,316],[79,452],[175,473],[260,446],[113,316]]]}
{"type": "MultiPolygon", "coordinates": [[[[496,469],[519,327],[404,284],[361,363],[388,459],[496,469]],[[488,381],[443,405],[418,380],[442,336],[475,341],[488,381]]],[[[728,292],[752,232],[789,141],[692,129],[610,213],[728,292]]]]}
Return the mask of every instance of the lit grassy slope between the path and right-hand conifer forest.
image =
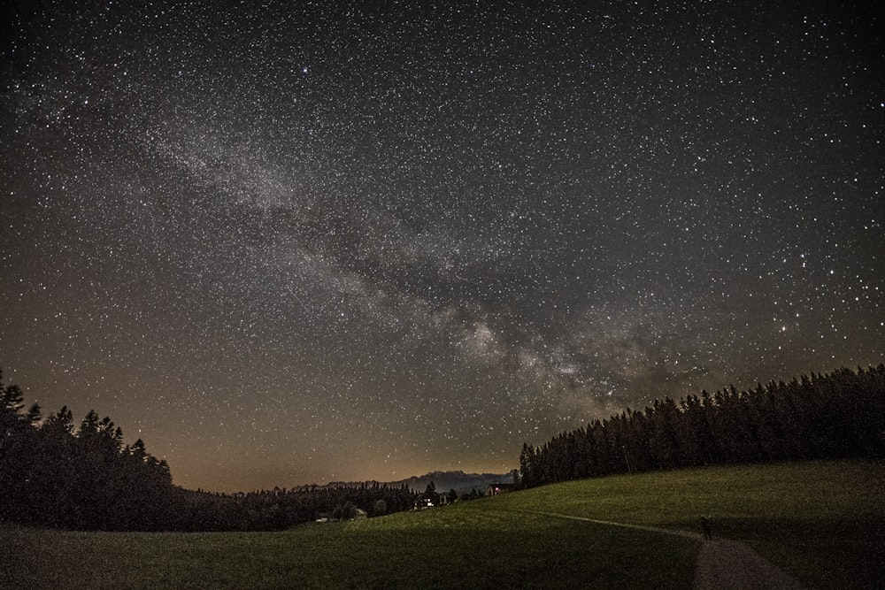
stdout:
{"type": "Polygon", "coordinates": [[[885,588],[885,462],[708,467],[586,479],[499,505],[743,540],[812,588],[885,588]],[[548,510],[552,511],[552,510],[548,510]]]}

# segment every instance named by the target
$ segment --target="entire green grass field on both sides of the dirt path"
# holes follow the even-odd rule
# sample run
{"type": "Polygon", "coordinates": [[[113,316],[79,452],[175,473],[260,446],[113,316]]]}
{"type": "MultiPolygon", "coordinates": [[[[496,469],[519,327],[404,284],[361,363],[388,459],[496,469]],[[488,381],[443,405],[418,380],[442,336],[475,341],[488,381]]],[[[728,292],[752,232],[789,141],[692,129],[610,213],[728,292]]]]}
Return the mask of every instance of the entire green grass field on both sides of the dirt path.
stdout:
{"type": "Polygon", "coordinates": [[[812,588],[885,587],[885,463],[604,479],[283,533],[0,529],[0,587],[690,588],[700,542],[535,511],[745,540],[812,588]]]}

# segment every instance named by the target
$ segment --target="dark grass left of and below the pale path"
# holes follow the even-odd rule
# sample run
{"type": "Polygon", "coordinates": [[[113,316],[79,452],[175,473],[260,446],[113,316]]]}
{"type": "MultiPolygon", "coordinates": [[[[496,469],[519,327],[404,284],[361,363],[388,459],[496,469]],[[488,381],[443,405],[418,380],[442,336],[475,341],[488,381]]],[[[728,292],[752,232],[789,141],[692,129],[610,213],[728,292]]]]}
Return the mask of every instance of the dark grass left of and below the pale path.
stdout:
{"type": "Polygon", "coordinates": [[[5,587],[684,588],[696,555],[690,540],[493,502],[286,533],[3,534],[5,587]]]}

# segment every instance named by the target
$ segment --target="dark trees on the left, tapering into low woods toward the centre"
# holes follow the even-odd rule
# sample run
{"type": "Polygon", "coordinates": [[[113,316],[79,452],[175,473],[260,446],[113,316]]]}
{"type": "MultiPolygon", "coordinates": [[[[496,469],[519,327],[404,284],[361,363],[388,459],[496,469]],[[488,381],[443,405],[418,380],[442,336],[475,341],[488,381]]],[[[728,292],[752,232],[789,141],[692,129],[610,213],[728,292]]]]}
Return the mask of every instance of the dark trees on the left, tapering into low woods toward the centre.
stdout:
{"type": "Polygon", "coordinates": [[[0,372],[0,523],[103,531],[280,530],[319,517],[412,510],[421,494],[378,483],[213,494],[174,486],[169,465],[110,418],[79,427],[62,408],[25,410],[0,372]]]}

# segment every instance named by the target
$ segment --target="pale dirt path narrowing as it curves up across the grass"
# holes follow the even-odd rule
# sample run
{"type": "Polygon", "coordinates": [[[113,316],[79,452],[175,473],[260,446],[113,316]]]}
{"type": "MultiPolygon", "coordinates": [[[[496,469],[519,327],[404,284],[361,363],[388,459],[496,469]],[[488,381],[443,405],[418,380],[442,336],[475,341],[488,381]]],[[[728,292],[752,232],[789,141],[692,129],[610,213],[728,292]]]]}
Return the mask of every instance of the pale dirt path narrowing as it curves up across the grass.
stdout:
{"type": "Polygon", "coordinates": [[[610,520],[571,517],[566,514],[538,512],[547,517],[583,520],[597,525],[621,526],[653,533],[674,534],[704,543],[695,566],[695,590],[804,590],[797,579],[766,561],[748,546],[736,540],[704,540],[701,533],[689,533],[658,526],[627,525],[610,520]]]}

